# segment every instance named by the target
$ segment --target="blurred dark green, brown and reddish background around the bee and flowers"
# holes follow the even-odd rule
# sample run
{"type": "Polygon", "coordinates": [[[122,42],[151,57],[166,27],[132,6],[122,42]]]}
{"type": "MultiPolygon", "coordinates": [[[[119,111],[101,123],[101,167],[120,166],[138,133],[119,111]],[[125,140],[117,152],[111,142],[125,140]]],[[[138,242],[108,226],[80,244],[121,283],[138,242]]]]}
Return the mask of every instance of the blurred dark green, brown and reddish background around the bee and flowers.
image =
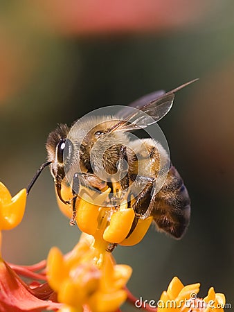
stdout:
{"type": "MultiPolygon", "coordinates": [[[[192,200],[188,232],[174,241],[152,227],[114,251],[132,266],[128,286],[143,300],[159,300],[174,276],[201,282],[201,297],[214,286],[234,300],[233,17],[232,0],[0,2],[0,172],[12,195],[45,161],[57,123],[200,78],[159,122],[192,200]]],[[[79,236],[46,169],[22,223],[3,233],[3,258],[32,264],[53,245],[68,252],[79,236]]]]}

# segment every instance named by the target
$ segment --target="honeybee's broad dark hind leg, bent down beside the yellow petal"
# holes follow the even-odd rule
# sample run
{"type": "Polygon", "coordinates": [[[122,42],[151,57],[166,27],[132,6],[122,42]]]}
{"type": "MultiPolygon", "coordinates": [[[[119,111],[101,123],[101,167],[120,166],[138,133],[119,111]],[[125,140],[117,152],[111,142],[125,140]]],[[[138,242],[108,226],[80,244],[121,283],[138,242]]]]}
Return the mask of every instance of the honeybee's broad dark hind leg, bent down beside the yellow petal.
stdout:
{"type": "Polygon", "coordinates": [[[150,202],[152,199],[152,191],[154,190],[154,181],[155,179],[152,177],[141,177],[137,176],[135,179],[147,181],[145,188],[141,193],[137,196],[136,202],[134,202],[134,205],[132,205],[132,209],[135,211],[135,218],[132,223],[132,227],[129,230],[129,233],[127,234],[126,239],[132,234],[134,229],[136,228],[136,225],[138,223],[138,219],[141,218],[147,211],[147,209],[150,206],[150,202]]]}

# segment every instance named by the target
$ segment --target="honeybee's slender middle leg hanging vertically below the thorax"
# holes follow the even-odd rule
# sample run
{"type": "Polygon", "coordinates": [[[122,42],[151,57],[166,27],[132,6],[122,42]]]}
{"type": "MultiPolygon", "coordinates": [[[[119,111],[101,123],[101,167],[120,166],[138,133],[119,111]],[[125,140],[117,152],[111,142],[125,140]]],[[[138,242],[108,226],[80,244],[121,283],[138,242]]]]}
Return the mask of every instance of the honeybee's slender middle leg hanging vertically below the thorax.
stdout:
{"type": "Polygon", "coordinates": [[[120,180],[120,186],[123,191],[123,196],[125,195],[127,189],[129,188],[129,174],[128,174],[128,158],[126,146],[121,146],[120,148],[120,159],[118,161],[118,170],[120,171],[120,177],[123,179],[120,180]]]}

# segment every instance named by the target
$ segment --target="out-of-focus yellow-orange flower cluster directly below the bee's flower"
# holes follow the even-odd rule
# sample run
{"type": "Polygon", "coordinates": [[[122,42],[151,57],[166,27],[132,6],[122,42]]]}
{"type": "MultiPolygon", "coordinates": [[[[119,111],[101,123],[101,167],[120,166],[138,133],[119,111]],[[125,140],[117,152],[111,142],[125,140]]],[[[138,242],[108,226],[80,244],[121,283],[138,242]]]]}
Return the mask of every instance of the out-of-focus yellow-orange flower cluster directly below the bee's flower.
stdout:
{"type": "Polygon", "coordinates": [[[93,248],[93,238],[82,234],[80,242],[66,256],[52,248],[48,254],[47,277],[59,302],[65,304],[60,311],[92,312],[116,311],[125,302],[123,289],[132,268],[116,265],[109,252],[93,248]]]}

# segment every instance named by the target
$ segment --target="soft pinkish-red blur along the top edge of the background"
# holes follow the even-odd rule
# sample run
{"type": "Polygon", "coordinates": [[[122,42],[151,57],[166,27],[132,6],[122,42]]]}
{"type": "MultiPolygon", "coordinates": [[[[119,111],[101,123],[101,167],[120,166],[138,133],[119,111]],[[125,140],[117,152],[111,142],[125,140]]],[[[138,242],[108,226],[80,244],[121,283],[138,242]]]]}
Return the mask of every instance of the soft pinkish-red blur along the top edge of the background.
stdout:
{"type": "Polygon", "coordinates": [[[61,33],[138,33],[175,30],[197,24],[212,1],[51,0],[37,3],[46,21],[61,33]]]}

